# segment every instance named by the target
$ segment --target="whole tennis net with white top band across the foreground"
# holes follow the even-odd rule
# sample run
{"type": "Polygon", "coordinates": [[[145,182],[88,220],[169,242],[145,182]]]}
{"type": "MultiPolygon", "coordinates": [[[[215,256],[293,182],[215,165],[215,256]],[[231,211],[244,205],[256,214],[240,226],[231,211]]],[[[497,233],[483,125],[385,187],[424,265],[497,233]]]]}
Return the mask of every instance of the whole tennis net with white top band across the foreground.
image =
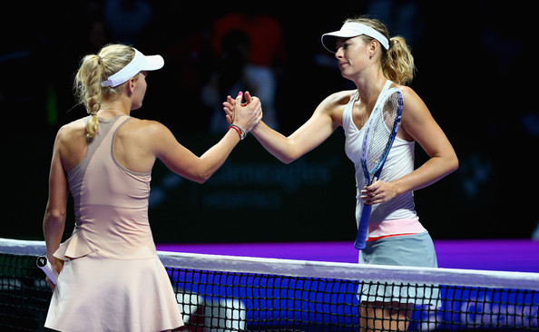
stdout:
{"type": "MultiPolygon", "coordinates": [[[[43,241],[0,239],[0,330],[45,330],[44,252],[43,241]]],[[[539,330],[539,273],[159,256],[185,331],[539,330]]]]}

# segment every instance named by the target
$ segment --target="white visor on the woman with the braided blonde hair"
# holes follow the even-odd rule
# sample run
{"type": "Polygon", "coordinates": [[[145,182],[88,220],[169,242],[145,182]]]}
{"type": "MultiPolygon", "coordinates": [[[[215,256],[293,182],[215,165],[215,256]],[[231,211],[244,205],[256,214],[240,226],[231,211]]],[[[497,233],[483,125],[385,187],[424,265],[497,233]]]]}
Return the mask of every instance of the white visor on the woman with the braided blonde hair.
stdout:
{"type": "Polygon", "coordinates": [[[106,81],[102,82],[102,86],[115,87],[122,83],[126,83],[130,78],[142,71],[154,71],[162,68],[164,60],[161,55],[146,56],[133,48],[135,56],[130,63],[127,63],[118,73],[114,73],[106,81]]]}

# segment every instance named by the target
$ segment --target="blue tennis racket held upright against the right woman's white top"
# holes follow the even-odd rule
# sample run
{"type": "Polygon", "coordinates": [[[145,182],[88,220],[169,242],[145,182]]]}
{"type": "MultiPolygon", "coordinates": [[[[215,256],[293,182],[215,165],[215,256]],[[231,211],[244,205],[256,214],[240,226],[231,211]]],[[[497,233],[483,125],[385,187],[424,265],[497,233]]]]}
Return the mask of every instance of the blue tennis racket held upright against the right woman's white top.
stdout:
{"type": "MultiPolygon", "coordinates": [[[[365,175],[365,184],[368,186],[380,177],[387,154],[397,135],[402,105],[402,93],[397,88],[392,88],[381,96],[370,115],[370,123],[363,139],[363,150],[361,151],[361,168],[365,175]]],[[[371,210],[371,205],[363,205],[358,235],[354,243],[356,249],[365,249],[371,210]]]]}

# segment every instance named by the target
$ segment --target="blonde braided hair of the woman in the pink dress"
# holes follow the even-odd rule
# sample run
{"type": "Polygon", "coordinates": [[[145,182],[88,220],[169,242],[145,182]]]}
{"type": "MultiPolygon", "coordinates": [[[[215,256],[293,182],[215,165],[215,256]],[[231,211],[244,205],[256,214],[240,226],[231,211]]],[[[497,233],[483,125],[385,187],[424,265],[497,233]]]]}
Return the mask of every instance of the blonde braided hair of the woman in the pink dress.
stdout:
{"type": "Polygon", "coordinates": [[[101,108],[103,98],[113,98],[119,91],[119,86],[102,86],[113,73],[119,72],[134,56],[131,46],[111,44],[103,47],[99,55],[90,54],[83,57],[81,66],[74,80],[75,95],[84,105],[86,112],[91,115],[86,123],[86,135],[93,138],[99,129],[97,112],[101,108]]]}

